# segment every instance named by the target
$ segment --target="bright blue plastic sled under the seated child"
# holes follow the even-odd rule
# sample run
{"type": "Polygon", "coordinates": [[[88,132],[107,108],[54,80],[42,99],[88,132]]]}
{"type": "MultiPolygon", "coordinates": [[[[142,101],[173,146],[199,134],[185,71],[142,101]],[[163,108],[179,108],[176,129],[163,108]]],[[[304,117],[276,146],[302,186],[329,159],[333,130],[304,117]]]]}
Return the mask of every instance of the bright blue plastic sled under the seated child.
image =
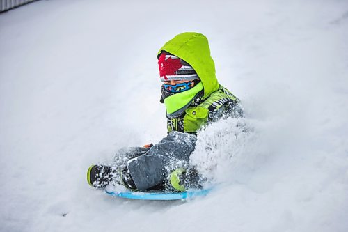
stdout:
{"type": "Polygon", "coordinates": [[[107,194],[112,196],[118,196],[126,199],[137,200],[160,200],[160,201],[173,201],[182,199],[192,199],[196,196],[206,196],[212,189],[207,190],[189,190],[187,192],[108,192],[107,194]]]}

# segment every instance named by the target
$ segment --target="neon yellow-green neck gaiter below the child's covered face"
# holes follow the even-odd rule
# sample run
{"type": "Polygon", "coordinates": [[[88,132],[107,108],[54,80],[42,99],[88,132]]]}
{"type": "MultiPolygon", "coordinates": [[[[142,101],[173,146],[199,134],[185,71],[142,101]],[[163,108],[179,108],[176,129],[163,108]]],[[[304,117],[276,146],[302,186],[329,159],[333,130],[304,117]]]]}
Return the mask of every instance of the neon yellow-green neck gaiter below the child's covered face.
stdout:
{"type": "Polygon", "coordinates": [[[188,91],[175,93],[174,95],[171,95],[168,98],[164,99],[164,105],[166,105],[167,114],[173,114],[175,111],[182,109],[182,107],[189,104],[189,102],[191,102],[196,94],[199,93],[202,89],[203,84],[202,82],[199,82],[196,86],[189,89],[188,91]]]}

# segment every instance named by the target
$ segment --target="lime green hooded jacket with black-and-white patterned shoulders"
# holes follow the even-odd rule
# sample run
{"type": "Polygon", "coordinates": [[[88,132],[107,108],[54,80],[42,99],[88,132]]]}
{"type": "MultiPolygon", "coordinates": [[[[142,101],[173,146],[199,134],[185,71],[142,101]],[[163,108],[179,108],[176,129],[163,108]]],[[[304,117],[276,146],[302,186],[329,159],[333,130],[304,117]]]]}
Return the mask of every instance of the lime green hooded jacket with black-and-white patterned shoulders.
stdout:
{"type": "Polygon", "coordinates": [[[215,75],[215,64],[210,56],[209,43],[203,34],[181,33],[166,42],[157,57],[164,51],[189,63],[201,81],[191,90],[176,93],[164,100],[168,132],[175,130],[196,133],[208,122],[208,117],[214,111],[223,108],[228,102],[239,102],[235,95],[219,85],[215,75]],[[203,93],[199,97],[199,105],[191,105],[197,100],[199,93],[203,93]],[[175,115],[175,112],[179,111],[180,114],[175,115]]]}

